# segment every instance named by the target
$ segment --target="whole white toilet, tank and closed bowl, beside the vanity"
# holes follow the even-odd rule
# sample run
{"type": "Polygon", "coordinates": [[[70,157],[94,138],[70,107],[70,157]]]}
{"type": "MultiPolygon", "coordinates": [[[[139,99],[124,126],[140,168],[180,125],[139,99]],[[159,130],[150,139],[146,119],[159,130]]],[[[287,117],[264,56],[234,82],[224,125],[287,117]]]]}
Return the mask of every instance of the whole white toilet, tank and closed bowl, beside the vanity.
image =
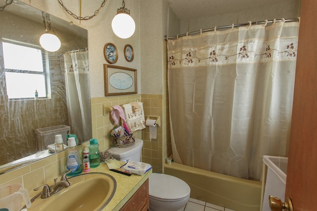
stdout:
{"type": "MultiPolygon", "coordinates": [[[[120,161],[141,161],[143,140],[135,139],[130,147],[109,149],[112,157],[120,161]]],[[[162,173],[149,177],[150,211],[183,211],[190,196],[190,187],[183,180],[162,173]]]]}

